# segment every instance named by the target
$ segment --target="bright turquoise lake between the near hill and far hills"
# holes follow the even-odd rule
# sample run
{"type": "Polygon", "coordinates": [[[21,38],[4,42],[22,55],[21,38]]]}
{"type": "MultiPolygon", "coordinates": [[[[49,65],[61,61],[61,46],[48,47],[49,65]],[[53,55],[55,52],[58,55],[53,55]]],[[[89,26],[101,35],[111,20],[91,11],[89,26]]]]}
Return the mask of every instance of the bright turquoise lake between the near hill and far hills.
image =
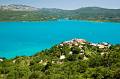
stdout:
{"type": "Polygon", "coordinates": [[[120,44],[120,23],[75,20],[1,22],[0,57],[31,56],[73,38],[120,44]]]}

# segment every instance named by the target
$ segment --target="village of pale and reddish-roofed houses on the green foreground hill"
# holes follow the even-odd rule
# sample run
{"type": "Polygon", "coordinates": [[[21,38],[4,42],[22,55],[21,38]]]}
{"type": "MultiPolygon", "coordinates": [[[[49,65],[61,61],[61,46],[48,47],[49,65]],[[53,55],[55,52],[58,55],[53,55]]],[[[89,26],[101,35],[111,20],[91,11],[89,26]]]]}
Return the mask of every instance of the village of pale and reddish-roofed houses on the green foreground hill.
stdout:
{"type": "MultiPolygon", "coordinates": [[[[85,56],[85,50],[83,50],[85,44],[89,44],[91,46],[98,47],[99,49],[109,48],[111,46],[109,43],[106,43],[106,42],[96,44],[96,43],[89,43],[84,39],[77,39],[77,38],[69,40],[69,41],[62,42],[58,46],[63,47],[65,45],[68,45],[70,48],[72,48],[74,46],[77,46],[77,47],[80,48],[80,53],[79,54],[83,56],[83,60],[88,60],[88,57],[85,56]]],[[[103,55],[105,53],[106,52],[102,52],[101,55],[103,55]]],[[[74,53],[73,53],[73,51],[69,51],[68,54],[73,55],[74,53]]],[[[59,59],[53,59],[51,61],[51,63],[52,64],[63,64],[65,59],[66,59],[65,54],[61,54],[59,59]]],[[[43,64],[43,65],[47,65],[47,63],[48,63],[48,59],[41,60],[39,62],[39,64],[43,64]]]]}

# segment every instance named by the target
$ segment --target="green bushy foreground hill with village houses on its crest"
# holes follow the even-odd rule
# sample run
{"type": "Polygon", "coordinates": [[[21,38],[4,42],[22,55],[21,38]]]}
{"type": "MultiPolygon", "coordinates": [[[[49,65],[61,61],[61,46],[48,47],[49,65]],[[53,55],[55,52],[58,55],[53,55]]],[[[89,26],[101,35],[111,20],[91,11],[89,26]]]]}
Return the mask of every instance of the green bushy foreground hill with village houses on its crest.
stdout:
{"type": "Polygon", "coordinates": [[[120,45],[72,39],[34,56],[0,59],[0,79],[120,79],[120,45]]]}

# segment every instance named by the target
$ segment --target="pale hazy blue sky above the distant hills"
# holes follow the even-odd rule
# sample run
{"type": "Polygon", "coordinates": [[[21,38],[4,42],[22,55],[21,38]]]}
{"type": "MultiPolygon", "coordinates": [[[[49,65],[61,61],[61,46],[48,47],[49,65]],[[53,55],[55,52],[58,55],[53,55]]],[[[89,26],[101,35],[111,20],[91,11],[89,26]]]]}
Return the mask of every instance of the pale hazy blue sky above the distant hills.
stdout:
{"type": "Polygon", "coordinates": [[[77,9],[81,7],[120,9],[120,0],[0,0],[0,4],[24,4],[39,8],[60,9],[77,9]]]}

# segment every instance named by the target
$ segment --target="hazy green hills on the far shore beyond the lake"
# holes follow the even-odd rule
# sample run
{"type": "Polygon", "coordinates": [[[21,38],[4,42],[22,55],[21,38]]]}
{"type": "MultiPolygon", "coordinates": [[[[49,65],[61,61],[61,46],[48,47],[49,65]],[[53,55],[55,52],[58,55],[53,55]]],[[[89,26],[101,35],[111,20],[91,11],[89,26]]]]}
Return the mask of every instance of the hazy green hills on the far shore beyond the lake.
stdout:
{"type": "Polygon", "coordinates": [[[49,21],[58,19],[120,22],[120,9],[84,7],[76,10],[62,10],[15,4],[0,6],[0,21],[49,21]]]}

